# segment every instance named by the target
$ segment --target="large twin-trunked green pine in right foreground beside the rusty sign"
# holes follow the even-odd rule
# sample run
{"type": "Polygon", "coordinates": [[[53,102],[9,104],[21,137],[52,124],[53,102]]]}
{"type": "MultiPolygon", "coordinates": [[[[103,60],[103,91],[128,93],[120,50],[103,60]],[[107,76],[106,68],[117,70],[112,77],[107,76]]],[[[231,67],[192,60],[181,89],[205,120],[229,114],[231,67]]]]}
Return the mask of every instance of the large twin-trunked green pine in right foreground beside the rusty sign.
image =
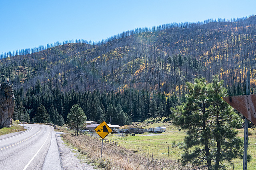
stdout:
{"type": "Polygon", "coordinates": [[[222,100],[227,90],[217,76],[211,84],[205,78],[195,78],[194,84],[186,85],[187,102],[183,109],[177,107],[174,121],[182,129],[188,129],[181,162],[206,166],[208,170],[225,169],[222,162],[243,157],[243,141],[234,129],[241,125],[241,118],[222,100]]]}

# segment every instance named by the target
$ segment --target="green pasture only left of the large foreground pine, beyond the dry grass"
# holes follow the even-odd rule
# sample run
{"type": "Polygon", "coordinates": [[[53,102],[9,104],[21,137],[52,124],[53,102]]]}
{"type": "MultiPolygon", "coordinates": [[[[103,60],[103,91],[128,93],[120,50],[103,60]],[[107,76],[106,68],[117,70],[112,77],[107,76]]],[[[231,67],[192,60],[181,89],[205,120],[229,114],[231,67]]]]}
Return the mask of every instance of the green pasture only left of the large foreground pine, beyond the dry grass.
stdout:
{"type": "MultiPolygon", "coordinates": [[[[160,123],[154,123],[149,125],[151,127],[159,127],[160,123]]],[[[161,123],[163,126],[163,123],[161,123]]],[[[165,133],[143,133],[135,134],[135,136],[129,137],[105,137],[115,142],[119,142],[122,147],[134,150],[135,153],[144,153],[154,158],[171,158],[179,159],[182,150],[178,147],[173,147],[173,143],[176,144],[183,141],[186,133],[183,131],[178,131],[179,127],[173,125],[165,125],[165,133]],[[168,127],[167,127],[168,126],[168,127]],[[169,149],[169,157],[168,157],[169,149]]],[[[148,127],[145,127],[146,129],[148,127]]]]}

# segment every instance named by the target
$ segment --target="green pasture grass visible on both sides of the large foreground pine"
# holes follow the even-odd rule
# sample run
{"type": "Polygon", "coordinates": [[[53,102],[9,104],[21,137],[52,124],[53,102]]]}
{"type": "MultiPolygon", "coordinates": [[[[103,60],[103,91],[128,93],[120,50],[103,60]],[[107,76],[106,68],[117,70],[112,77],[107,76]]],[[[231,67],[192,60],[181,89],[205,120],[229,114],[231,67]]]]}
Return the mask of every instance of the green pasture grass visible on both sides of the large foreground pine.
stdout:
{"type": "MultiPolygon", "coordinates": [[[[141,124],[142,125],[142,124],[141,124]]],[[[143,127],[144,125],[138,127],[143,127]]],[[[136,134],[130,137],[105,137],[105,139],[110,139],[112,141],[120,143],[122,147],[127,149],[138,151],[138,153],[148,154],[154,158],[168,158],[178,160],[182,154],[182,149],[174,147],[174,142],[176,144],[183,141],[186,132],[184,130],[178,131],[180,127],[175,127],[171,122],[169,123],[151,123],[145,126],[145,129],[149,127],[166,127],[166,132],[162,134],[136,134]],[[168,157],[169,148],[169,157],[168,157]]],[[[242,139],[244,138],[244,129],[238,129],[238,136],[242,139]]],[[[256,131],[249,129],[248,137],[248,154],[252,155],[252,161],[247,163],[247,170],[256,169],[256,131]]],[[[223,162],[228,166],[227,169],[233,170],[233,165],[228,164],[228,162],[223,162]]],[[[234,160],[234,170],[243,169],[243,160],[234,160]]]]}

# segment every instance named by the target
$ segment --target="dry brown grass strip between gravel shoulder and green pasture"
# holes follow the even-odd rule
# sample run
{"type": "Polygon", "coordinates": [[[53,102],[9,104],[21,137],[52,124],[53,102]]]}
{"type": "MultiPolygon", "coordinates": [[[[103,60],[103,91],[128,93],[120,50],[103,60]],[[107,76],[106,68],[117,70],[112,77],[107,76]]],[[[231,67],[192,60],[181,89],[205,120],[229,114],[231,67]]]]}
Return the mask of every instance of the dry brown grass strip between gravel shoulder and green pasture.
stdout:
{"type": "Polygon", "coordinates": [[[86,156],[86,162],[95,164],[106,170],[189,170],[179,162],[170,159],[152,158],[139,154],[136,150],[126,149],[110,143],[103,144],[101,158],[101,141],[92,139],[89,135],[75,137],[63,134],[64,140],[86,156]]]}

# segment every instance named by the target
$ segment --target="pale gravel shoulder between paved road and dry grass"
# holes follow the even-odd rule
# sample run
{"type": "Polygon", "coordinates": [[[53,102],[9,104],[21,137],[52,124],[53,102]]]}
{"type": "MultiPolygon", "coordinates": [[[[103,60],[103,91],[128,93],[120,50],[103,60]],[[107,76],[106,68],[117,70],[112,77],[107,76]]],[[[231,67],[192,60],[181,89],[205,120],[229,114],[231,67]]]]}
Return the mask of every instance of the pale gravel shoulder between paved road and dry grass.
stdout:
{"type": "Polygon", "coordinates": [[[56,134],[56,140],[60,152],[62,170],[96,170],[94,166],[80,161],[77,158],[80,153],[64,144],[60,134],[56,134]]]}

